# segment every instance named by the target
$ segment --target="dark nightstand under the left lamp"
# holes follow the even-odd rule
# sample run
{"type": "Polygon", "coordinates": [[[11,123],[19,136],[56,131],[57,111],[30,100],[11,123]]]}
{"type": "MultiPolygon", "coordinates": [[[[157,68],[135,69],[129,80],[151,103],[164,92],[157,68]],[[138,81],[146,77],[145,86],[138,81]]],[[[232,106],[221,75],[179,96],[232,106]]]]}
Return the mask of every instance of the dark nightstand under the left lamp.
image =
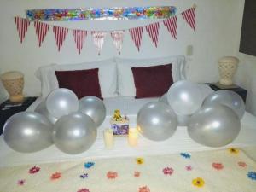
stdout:
{"type": "Polygon", "coordinates": [[[26,97],[22,103],[14,103],[9,100],[0,105],[0,134],[3,132],[3,125],[10,116],[25,111],[38,97],[26,97]]]}

